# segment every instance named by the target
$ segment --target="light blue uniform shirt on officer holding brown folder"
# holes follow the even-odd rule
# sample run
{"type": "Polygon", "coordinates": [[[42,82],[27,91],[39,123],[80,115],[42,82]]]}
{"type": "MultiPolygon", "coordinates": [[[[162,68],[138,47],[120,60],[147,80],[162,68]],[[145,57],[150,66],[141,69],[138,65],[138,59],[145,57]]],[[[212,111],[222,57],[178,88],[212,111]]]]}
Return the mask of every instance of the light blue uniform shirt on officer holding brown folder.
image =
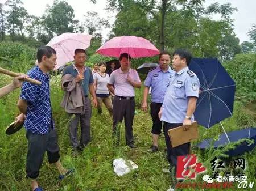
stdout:
{"type": "Polygon", "coordinates": [[[188,108],[188,97],[199,97],[199,87],[199,79],[188,67],[175,73],[164,96],[161,121],[170,124],[183,123],[188,108]]]}

